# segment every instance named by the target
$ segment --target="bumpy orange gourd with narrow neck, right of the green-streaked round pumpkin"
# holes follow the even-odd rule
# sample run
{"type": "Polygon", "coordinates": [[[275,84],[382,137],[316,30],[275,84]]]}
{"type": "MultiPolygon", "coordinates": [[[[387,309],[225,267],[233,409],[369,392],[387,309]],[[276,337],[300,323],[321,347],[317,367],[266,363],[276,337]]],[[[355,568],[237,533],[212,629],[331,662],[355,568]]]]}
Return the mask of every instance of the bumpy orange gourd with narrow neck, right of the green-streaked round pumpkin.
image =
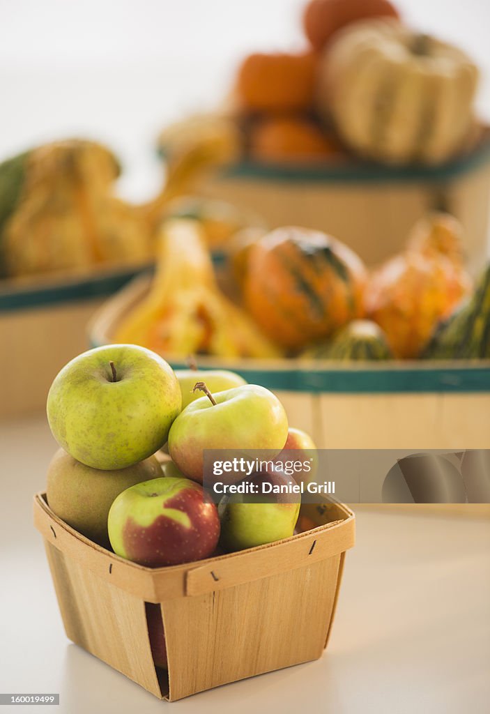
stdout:
{"type": "MultiPolygon", "coordinates": [[[[384,263],[366,291],[367,314],[384,330],[399,358],[419,356],[437,323],[448,317],[471,289],[461,262],[445,253],[447,240],[437,250],[437,231],[434,235],[434,230],[427,230],[430,226],[429,220],[423,231],[424,224],[417,224],[407,252],[384,263]]],[[[451,236],[456,240],[454,233],[451,236]]],[[[454,241],[451,245],[454,248],[454,241]]]]}

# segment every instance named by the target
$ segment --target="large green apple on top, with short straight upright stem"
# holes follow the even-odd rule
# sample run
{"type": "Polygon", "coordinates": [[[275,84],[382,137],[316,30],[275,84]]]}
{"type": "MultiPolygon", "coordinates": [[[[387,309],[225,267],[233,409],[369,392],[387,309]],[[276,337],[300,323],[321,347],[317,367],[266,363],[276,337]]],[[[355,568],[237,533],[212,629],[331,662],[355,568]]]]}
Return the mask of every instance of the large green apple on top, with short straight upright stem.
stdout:
{"type": "Polygon", "coordinates": [[[182,398],[172,368],[136,345],[84,352],[58,373],[48,395],[54,438],[86,466],[113,470],[163,446],[182,398]]]}

